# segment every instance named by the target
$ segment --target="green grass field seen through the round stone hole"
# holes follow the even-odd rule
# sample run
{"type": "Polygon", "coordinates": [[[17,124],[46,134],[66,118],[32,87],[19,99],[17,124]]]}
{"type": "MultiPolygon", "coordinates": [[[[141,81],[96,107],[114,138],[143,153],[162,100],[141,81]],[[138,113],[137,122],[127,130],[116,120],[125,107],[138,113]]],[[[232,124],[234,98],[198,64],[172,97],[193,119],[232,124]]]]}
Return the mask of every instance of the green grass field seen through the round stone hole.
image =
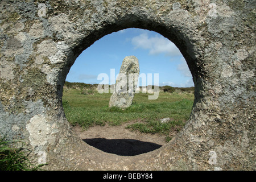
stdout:
{"type": "Polygon", "coordinates": [[[157,100],[148,100],[148,94],[135,94],[133,104],[127,109],[108,107],[112,93],[100,94],[95,87],[64,86],[63,108],[71,125],[86,129],[94,125],[122,125],[142,133],[160,133],[168,138],[172,130],[180,130],[191,114],[194,96],[192,92],[177,90],[159,92],[157,100]],[[170,118],[161,123],[162,118],[170,118]]]}

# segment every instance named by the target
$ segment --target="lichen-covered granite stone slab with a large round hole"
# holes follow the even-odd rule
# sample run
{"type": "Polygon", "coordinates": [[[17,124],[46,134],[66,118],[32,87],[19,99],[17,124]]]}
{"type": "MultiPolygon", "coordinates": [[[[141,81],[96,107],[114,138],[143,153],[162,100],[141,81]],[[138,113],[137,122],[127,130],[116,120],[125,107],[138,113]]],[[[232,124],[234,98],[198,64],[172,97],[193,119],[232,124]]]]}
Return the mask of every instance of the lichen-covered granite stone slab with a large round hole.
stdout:
{"type": "Polygon", "coordinates": [[[47,169],[255,170],[255,1],[2,0],[0,46],[1,137],[23,139],[47,169]],[[195,82],[184,129],[132,158],[82,142],[61,105],[76,57],[130,27],[174,42],[195,82]]]}

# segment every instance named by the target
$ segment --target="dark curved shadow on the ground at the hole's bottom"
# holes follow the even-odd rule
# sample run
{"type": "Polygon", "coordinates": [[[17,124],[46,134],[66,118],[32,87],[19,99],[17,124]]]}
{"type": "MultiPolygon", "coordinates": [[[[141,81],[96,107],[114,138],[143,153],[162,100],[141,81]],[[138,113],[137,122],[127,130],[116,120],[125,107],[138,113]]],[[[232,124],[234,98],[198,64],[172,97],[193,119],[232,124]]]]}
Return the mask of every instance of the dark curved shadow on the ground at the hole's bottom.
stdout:
{"type": "Polygon", "coordinates": [[[134,139],[91,138],[83,140],[99,150],[122,156],[139,155],[162,147],[156,143],[142,142],[134,139]]]}

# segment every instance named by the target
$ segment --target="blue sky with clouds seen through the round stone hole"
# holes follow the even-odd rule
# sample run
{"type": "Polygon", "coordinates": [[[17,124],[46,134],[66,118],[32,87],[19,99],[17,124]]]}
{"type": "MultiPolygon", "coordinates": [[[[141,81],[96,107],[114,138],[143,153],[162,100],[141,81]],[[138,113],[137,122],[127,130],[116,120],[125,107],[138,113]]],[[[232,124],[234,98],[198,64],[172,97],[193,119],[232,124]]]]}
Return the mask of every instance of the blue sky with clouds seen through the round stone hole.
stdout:
{"type": "Polygon", "coordinates": [[[194,86],[187,63],[175,44],[157,32],[139,28],[113,32],[94,42],[77,57],[66,81],[99,84],[102,80],[97,80],[98,75],[106,73],[112,84],[110,69],[115,69],[117,76],[123,59],[131,55],[139,60],[140,74],[152,74],[152,84],[154,73],[158,73],[159,86],[194,86]]]}

